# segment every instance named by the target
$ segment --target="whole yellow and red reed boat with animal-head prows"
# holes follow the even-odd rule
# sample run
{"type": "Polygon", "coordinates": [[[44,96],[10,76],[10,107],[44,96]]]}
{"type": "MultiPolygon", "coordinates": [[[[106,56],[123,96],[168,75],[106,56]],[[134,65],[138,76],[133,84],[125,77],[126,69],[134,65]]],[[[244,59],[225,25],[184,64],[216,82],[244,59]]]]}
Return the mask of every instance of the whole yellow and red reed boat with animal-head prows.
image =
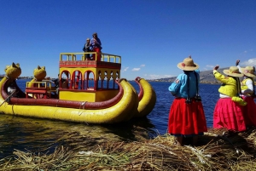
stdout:
{"type": "Polygon", "coordinates": [[[19,64],[4,69],[0,81],[0,113],[79,123],[121,123],[146,117],[156,102],[154,88],[141,77],[139,93],[120,78],[121,56],[115,54],[61,53],[58,83],[47,80],[44,66],[33,71],[33,79],[21,90],[19,64]],[[85,60],[94,54],[95,60],[85,60]],[[9,92],[9,88],[15,89],[9,92]]]}

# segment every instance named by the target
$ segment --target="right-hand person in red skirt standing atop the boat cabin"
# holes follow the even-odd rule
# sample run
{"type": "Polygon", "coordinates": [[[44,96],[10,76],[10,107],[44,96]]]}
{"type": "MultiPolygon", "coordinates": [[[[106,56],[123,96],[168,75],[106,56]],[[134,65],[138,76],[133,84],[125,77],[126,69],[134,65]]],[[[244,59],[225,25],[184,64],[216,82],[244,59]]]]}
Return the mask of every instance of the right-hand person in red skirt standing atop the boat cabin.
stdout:
{"type": "Polygon", "coordinates": [[[92,54],[92,60],[100,61],[102,56],[102,42],[99,39],[96,32],[92,34],[92,38],[90,40],[90,46],[91,46],[91,51],[97,53],[97,59],[96,59],[96,55],[92,54]]]}

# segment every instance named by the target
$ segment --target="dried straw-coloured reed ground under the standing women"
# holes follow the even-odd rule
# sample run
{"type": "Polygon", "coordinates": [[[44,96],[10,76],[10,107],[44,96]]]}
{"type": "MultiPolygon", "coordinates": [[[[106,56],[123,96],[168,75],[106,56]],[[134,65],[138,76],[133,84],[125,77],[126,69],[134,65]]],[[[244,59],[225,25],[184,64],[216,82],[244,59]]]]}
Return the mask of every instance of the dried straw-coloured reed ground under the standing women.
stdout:
{"type": "MultiPolygon", "coordinates": [[[[77,139],[79,136],[76,135],[77,139]]],[[[76,141],[73,138],[73,142],[76,141]]],[[[1,170],[256,170],[256,129],[232,133],[210,129],[197,146],[173,145],[169,134],[154,140],[105,141],[86,149],[59,146],[51,154],[15,150],[0,161],[1,170]]],[[[88,142],[84,145],[88,145],[88,142]]]]}

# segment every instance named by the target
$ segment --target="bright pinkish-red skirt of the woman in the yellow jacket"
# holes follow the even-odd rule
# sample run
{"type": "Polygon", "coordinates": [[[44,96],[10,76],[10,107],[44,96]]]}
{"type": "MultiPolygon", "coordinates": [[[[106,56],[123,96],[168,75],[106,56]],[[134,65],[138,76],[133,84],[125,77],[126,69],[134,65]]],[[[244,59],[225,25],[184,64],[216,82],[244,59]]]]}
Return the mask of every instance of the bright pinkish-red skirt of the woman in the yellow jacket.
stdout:
{"type": "Polygon", "coordinates": [[[228,128],[238,132],[246,130],[242,110],[243,106],[231,98],[220,98],[213,111],[213,128],[228,128]]]}

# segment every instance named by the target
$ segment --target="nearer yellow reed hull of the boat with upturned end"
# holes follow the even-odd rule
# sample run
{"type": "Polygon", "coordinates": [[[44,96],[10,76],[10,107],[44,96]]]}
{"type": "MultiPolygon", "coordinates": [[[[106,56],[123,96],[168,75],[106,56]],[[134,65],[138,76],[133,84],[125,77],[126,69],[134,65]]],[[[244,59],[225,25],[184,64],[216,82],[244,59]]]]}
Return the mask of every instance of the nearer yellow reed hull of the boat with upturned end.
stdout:
{"type": "MultiPolygon", "coordinates": [[[[7,78],[3,78],[0,82],[0,88],[4,87],[3,83],[5,83],[5,79],[7,78]]],[[[58,119],[68,122],[120,123],[133,117],[131,111],[137,108],[138,97],[125,79],[122,79],[119,84],[124,89],[121,100],[119,100],[117,104],[105,109],[76,109],[44,105],[10,105],[7,101],[4,102],[5,99],[3,99],[1,95],[0,104],[2,105],[0,106],[0,112],[10,115],[58,119]]]]}

